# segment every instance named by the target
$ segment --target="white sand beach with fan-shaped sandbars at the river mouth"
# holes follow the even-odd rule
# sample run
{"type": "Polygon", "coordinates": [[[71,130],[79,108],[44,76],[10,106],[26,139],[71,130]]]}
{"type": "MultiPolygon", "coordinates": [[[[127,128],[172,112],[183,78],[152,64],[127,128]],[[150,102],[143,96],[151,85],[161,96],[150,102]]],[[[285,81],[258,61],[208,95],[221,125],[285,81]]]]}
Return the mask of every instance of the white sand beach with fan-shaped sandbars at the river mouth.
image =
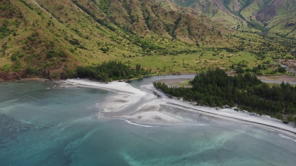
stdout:
{"type": "MultiPolygon", "coordinates": [[[[139,124],[151,124],[151,125],[160,125],[160,124],[194,124],[194,120],[185,116],[181,116],[177,113],[171,113],[166,111],[164,107],[170,107],[178,109],[180,111],[197,115],[202,114],[205,119],[219,119],[219,120],[230,120],[231,122],[241,122],[244,124],[252,124],[254,126],[265,128],[268,130],[275,130],[280,133],[288,134],[296,138],[296,128],[284,124],[282,122],[276,121],[268,117],[257,117],[251,116],[247,113],[237,112],[233,109],[220,109],[216,110],[211,107],[198,107],[186,103],[185,101],[179,101],[170,99],[161,91],[157,90],[153,84],[142,85],[143,89],[152,91],[161,97],[157,98],[155,94],[142,91],[138,88],[131,86],[126,82],[111,82],[109,84],[101,84],[99,82],[90,82],[85,80],[71,80],[67,79],[66,81],[61,81],[69,83],[75,86],[80,87],[90,87],[90,88],[99,88],[104,90],[113,91],[116,94],[111,96],[111,99],[102,103],[106,105],[115,105],[113,107],[108,107],[106,111],[103,109],[100,114],[103,113],[104,117],[115,117],[128,120],[132,123],[139,124]],[[122,94],[130,94],[129,96],[124,96],[122,94]],[[152,96],[153,95],[153,96],[152,96]],[[112,98],[113,97],[113,98],[112,98]],[[144,102],[146,101],[146,102],[144,102]],[[136,105],[135,110],[129,110],[130,105],[136,105]],[[126,108],[126,109],[125,109],[126,108]],[[128,109],[128,111],[127,111],[128,109]],[[111,115],[111,116],[109,116],[111,115]]],[[[174,112],[174,111],[173,111],[174,112]]],[[[227,122],[227,121],[225,121],[227,122]]]]}

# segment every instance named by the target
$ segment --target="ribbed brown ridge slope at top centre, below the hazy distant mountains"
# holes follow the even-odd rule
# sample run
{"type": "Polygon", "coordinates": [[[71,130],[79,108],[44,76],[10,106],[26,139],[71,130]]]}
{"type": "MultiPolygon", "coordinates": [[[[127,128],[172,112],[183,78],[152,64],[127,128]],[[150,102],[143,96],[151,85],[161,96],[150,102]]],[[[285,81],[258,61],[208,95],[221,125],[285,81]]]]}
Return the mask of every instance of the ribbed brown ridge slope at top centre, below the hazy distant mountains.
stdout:
{"type": "MultiPolygon", "coordinates": [[[[204,36],[216,36],[219,30],[213,29],[213,22],[201,13],[191,13],[162,0],[106,0],[95,1],[97,7],[104,10],[106,17],[119,27],[136,34],[151,34],[178,38],[185,42],[200,42],[201,37],[194,35],[202,32],[204,36]]],[[[210,41],[213,43],[215,41],[210,41]]]]}

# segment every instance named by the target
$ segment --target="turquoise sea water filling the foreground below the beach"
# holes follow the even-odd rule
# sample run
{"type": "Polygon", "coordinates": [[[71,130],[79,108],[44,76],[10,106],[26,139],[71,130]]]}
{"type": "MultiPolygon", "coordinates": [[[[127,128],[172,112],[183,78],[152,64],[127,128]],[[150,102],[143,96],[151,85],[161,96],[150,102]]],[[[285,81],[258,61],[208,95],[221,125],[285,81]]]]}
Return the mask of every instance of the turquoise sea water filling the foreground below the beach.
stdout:
{"type": "MultiPolygon", "coordinates": [[[[131,82],[135,87],[151,77],[131,82]]],[[[112,92],[0,84],[0,165],[295,165],[296,142],[239,123],[143,127],[98,119],[112,92]]]]}

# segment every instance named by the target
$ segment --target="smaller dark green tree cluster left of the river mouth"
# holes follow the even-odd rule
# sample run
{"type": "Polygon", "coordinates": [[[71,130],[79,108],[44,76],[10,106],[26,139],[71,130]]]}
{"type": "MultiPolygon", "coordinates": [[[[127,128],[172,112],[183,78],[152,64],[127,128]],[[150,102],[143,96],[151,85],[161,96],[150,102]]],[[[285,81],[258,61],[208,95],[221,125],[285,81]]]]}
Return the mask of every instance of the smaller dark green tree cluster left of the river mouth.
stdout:
{"type": "Polygon", "coordinates": [[[105,61],[97,65],[78,66],[76,69],[78,77],[103,82],[149,75],[150,73],[151,69],[144,69],[140,64],[136,64],[135,68],[131,68],[120,61],[105,61]]]}

